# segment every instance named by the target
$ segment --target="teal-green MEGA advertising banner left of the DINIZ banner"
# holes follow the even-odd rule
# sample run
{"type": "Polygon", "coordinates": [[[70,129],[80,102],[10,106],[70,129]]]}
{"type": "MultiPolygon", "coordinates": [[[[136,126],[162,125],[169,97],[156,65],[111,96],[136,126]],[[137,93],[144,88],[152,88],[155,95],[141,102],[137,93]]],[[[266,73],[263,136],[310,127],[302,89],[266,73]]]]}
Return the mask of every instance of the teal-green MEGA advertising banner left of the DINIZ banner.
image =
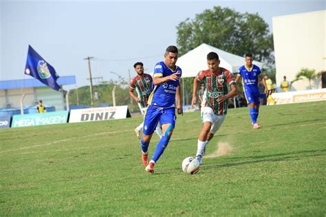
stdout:
{"type": "Polygon", "coordinates": [[[64,124],[67,123],[68,113],[68,111],[56,111],[49,113],[14,115],[12,117],[11,127],[64,124]]]}

